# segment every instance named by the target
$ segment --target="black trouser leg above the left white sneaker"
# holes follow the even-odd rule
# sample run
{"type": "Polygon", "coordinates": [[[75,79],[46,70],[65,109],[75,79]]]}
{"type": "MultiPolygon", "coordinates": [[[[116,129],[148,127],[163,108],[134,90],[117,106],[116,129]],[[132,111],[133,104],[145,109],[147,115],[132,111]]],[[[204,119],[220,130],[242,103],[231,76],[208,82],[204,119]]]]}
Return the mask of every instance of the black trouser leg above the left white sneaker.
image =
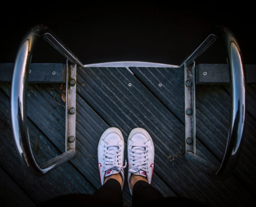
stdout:
{"type": "Polygon", "coordinates": [[[123,194],[120,183],[115,179],[109,179],[93,195],[69,194],[53,198],[40,206],[123,206],[123,194]]]}

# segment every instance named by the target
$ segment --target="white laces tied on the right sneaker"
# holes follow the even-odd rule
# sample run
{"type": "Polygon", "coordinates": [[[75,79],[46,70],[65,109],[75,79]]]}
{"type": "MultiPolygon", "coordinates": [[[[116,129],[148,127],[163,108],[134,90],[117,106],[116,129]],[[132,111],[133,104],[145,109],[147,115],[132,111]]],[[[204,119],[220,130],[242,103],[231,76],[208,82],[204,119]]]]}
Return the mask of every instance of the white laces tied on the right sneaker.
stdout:
{"type": "Polygon", "coordinates": [[[143,170],[145,172],[148,172],[148,161],[147,153],[148,150],[146,150],[146,144],[132,144],[130,151],[130,160],[131,160],[131,169],[129,172],[135,173],[139,170],[143,170]]]}

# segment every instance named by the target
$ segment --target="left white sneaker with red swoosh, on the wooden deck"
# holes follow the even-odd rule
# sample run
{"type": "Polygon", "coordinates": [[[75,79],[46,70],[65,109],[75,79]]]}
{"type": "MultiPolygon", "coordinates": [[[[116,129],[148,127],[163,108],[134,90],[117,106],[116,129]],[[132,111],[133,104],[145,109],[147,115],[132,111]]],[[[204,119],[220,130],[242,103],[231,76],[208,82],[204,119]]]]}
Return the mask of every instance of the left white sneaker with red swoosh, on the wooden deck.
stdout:
{"type": "MultiPolygon", "coordinates": [[[[98,159],[101,185],[104,184],[105,177],[120,172],[124,183],[123,174],[123,152],[125,149],[125,141],[122,132],[117,128],[108,128],[102,134],[98,145],[98,159]]],[[[123,188],[123,186],[122,186],[123,188]]]]}

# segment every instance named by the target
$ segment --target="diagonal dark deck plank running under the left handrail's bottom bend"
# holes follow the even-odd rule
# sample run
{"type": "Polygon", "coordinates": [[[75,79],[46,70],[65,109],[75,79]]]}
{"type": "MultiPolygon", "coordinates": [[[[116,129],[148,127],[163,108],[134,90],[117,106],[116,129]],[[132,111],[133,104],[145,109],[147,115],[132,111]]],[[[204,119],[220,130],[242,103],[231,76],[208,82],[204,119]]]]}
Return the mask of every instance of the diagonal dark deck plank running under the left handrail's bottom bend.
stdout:
{"type": "MultiPolygon", "coordinates": [[[[0,97],[0,165],[34,199],[36,204],[68,193],[94,193],[95,188],[70,162],[66,162],[43,177],[34,175],[20,165],[12,138],[10,100],[2,90],[0,90],[0,97]]],[[[28,126],[32,150],[39,163],[60,155],[60,151],[30,120],[28,126]]]]}

